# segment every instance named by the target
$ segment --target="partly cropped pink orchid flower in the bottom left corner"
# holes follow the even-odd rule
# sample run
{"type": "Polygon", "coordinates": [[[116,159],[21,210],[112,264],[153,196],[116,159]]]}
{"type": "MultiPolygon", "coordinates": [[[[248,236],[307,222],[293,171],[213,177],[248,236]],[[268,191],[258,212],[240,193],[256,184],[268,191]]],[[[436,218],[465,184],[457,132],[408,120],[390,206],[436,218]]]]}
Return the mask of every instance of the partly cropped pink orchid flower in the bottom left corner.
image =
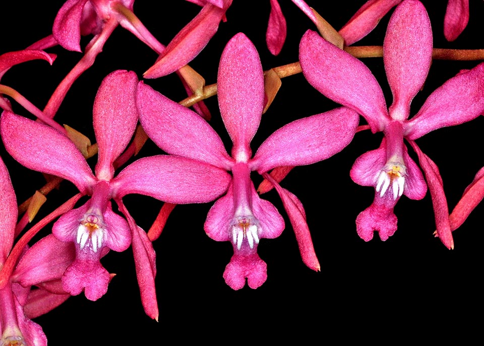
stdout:
{"type": "MultiPolygon", "coordinates": [[[[2,205],[0,269],[2,269],[14,243],[18,214],[15,192],[2,159],[0,159],[0,204],[2,205]]],[[[66,292],[59,290],[56,283],[68,263],[72,261],[73,252],[61,246],[57,247],[55,252],[44,251],[40,255],[39,253],[33,255],[30,251],[32,249],[24,251],[15,270],[6,278],[6,285],[0,288],[0,344],[2,345],[47,345],[42,328],[30,318],[52,310],[70,297],[66,292]],[[45,265],[47,262],[48,266],[45,265]],[[31,290],[32,285],[39,285],[46,281],[49,281],[48,285],[31,290]]]]}

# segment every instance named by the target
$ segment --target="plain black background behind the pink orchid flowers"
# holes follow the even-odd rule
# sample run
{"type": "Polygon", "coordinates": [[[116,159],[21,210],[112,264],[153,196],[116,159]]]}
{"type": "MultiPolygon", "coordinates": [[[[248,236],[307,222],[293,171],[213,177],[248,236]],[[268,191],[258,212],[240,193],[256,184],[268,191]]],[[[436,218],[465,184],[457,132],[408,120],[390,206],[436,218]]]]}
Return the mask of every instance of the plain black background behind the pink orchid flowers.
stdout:
{"type": "MultiPolygon", "coordinates": [[[[134,13],[163,44],[187,24],[200,10],[184,1],[169,2],[170,9],[159,2],[138,0],[134,13]]],[[[330,24],[340,29],[364,4],[363,1],[307,1],[330,24]]],[[[443,35],[446,2],[425,1],[434,31],[434,46],[439,48],[482,48],[481,16],[484,3],[470,1],[470,21],[461,37],[449,43],[443,35]]],[[[51,33],[54,17],[63,1],[8,2],[2,4],[0,53],[19,50],[51,33]]],[[[207,84],[216,83],[219,57],[226,42],[244,32],[256,45],[264,70],[298,59],[299,40],[313,23],[289,0],[280,0],[287,20],[287,40],[279,56],[272,56],[265,44],[265,31],[270,12],[269,1],[238,1],[227,12],[217,34],[190,65],[207,84]]],[[[391,11],[393,12],[393,10],[391,11]]],[[[355,45],[381,45],[390,14],[374,32],[355,45]]],[[[81,47],[89,38],[84,37],[81,47]]],[[[58,54],[49,66],[45,61],[32,61],[13,67],[2,79],[43,108],[56,85],[81,58],[81,53],[61,47],[49,49],[58,54]]],[[[157,55],[122,27],[116,28],[97,57],[94,66],[84,73],[68,93],[55,119],[88,135],[94,143],[92,104],[102,79],[117,69],[135,71],[139,78],[156,60],[157,55]]],[[[391,103],[382,58],[367,58],[391,103]]],[[[415,114],[425,99],[462,68],[477,62],[434,61],[423,90],[412,102],[415,114]]],[[[350,79],[351,76],[348,76],[350,79]]],[[[180,101],[186,97],[175,75],[146,81],[167,97],[180,101]]],[[[314,90],[302,75],[283,79],[282,88],[269,111],[263,115],[252,143],[253,151],[282,125],[337,105],[314,90]]],[[[230,150],[229,137],[218,112],[216,97],[206,101],[213,116],[211,121],[230,150]]],[[[30,116],[18,104],[14,110],[30,116]]],[[[464,188],[484,165],[482,128],[479,117],[470,123],[442,128],[417,140],[420,149],[439,166],[449,208],[457,203],[464,188]]],[[[363,119],[361,119],[364,121],[363,119]]],[[[124,253],[110,252],[102,263],[117,275],[108,292],[97,302],[84,295],[70,298],[65,304],[37,318],[50,345],[122,344],[149,341],[166,342],[198,337],[227,340],[251,340],[258,330],[268,337],[285,335],[302,324],[306,331],[326,338],[339,330],[380,331],[425,326],[435,332],[449,332],[453,321],[466,321],[464,310],[482,307],[482,223],[484,204],[477,206],[464,225],[453,233],[455,249],[450,251],[434,238],[434,215],[430,193],[422,200],[402,197],[395,207],[398,231],[386,242],[378,235],[366,243],[355,231],[354,220],[368,207],[374,189],[351,181],[349,170],[354,160],[366,151],[378,148],[382,133],[357,133],[352,143],[334,157],[307,167],[294,169],[282,186],[293,192],[304,204],[321,272],[307,268],[300,259],[297,243],[282,203],[271,191],[264,198],[281,212],[286,229],[277,239],[264,239],[259,254],[268,265],[268,280],[257,290],[245,287],[233,291],[223,281],[222,273],[232,254],[229,242],[211,240],[203,223],[212,203],[177,206],[161,237],[154,242],[157,253],[156,277],[159,322],[144,314],[131,248],[124,253]],[[411,316],[396,324],[403,316],[411,316]],[[281,331],[277,326],[290,323],[281,331]],[[341,329],[343,328],[343,329],[341,329]],[[354,329],[356,328],[356,329],[354,329]],[[437,328],[437,329],[434,329],[437,328]],[[324,333],[324,334],[322,334],[324,333]]],[[[416,160],[411,148],[410,155],[416,160]]],[[[152,143],[140,155],[159,154],[152,143]]],[[[19,203],[44,184],[41,174],[17,164],[2,148],[19,203]]],[[[96,159],[89,160],[94,167],[96,159]]],[[[253,174],[256,184],[262,180],[253,174]]],[[[48,196],[41,216],[76,193],[64,182],[61,189],[48,196]]],[[[137,223],[148,229],[162,203],[143,196],[127,196],[128,209],[137,223]]],[[[37,219],[39,220],[39,219],[37,219]]],[[[49,227],[41,232],[45,236],[49,227]]],[[[468,324],[469,330],[472,323],[468,324]]],[[[339,335],[339,337],[344,337],[339,335]]]]}

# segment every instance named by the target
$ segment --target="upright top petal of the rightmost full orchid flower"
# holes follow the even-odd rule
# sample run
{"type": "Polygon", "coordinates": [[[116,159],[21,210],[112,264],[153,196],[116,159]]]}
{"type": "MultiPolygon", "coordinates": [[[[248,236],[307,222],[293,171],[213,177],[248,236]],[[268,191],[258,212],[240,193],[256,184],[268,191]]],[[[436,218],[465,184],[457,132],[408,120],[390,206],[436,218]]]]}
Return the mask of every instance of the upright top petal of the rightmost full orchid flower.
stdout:
{"type": "Polygon", "coordinates": [[[402,2],[390,18],[383,43],[383,61],[393,93],[393,119],[404,120],[410,115],[410,102],[429,73],[432,48],[432,28],[425,7],[418,1],[402,2]]]}

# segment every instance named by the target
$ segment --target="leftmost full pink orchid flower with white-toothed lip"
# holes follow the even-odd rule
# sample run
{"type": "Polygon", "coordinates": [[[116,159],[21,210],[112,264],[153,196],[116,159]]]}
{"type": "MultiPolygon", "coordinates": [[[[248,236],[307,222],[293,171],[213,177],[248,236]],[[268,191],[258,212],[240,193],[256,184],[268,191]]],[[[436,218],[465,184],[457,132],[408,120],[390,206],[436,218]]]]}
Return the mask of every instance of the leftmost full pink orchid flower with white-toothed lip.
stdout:
{"type": "Polygon", "coordinates": [[[129,144],[138,121],[137,83],[135,73],[115,71],[98,90],[93,108],[98,143],[95,175],[74,143],[49,126],[6,111],[0,130],[7,151],[22,165],[70,180],[80,195],[91,196],[84,205],[59,218],[52,228],[58,240],[73,243],[76,248],[76,258],[62,277],[64,290],[72,295],[84,290],[88,299],[100,298],[110,281],[100,258],[109,249],[124,251],[132,244],[145,311],[157,318],[155,253],[122,197],[139,193],[170,203],[208,202],[225,191],[230,176],[194,160],[159,155],[139,159],[114,177],[113,162],[129,144]],[[111,199],[126,220],[112,211],[111,199]]]}

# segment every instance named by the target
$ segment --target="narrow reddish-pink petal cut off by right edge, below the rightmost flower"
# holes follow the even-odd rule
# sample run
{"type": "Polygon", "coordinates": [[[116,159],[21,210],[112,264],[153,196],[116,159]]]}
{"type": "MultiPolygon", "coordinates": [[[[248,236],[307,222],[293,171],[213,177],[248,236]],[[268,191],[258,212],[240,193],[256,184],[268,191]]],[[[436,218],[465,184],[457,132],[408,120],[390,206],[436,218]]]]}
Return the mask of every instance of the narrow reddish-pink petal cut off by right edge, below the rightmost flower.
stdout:
{"type": "Polygon", "coordinates": [[[484,168],[475,175],[474,180],[466,187],[454,210],[449,215],[450,229],[454,231],[464,223],[477,204],[484,198],[484,168]]]}

